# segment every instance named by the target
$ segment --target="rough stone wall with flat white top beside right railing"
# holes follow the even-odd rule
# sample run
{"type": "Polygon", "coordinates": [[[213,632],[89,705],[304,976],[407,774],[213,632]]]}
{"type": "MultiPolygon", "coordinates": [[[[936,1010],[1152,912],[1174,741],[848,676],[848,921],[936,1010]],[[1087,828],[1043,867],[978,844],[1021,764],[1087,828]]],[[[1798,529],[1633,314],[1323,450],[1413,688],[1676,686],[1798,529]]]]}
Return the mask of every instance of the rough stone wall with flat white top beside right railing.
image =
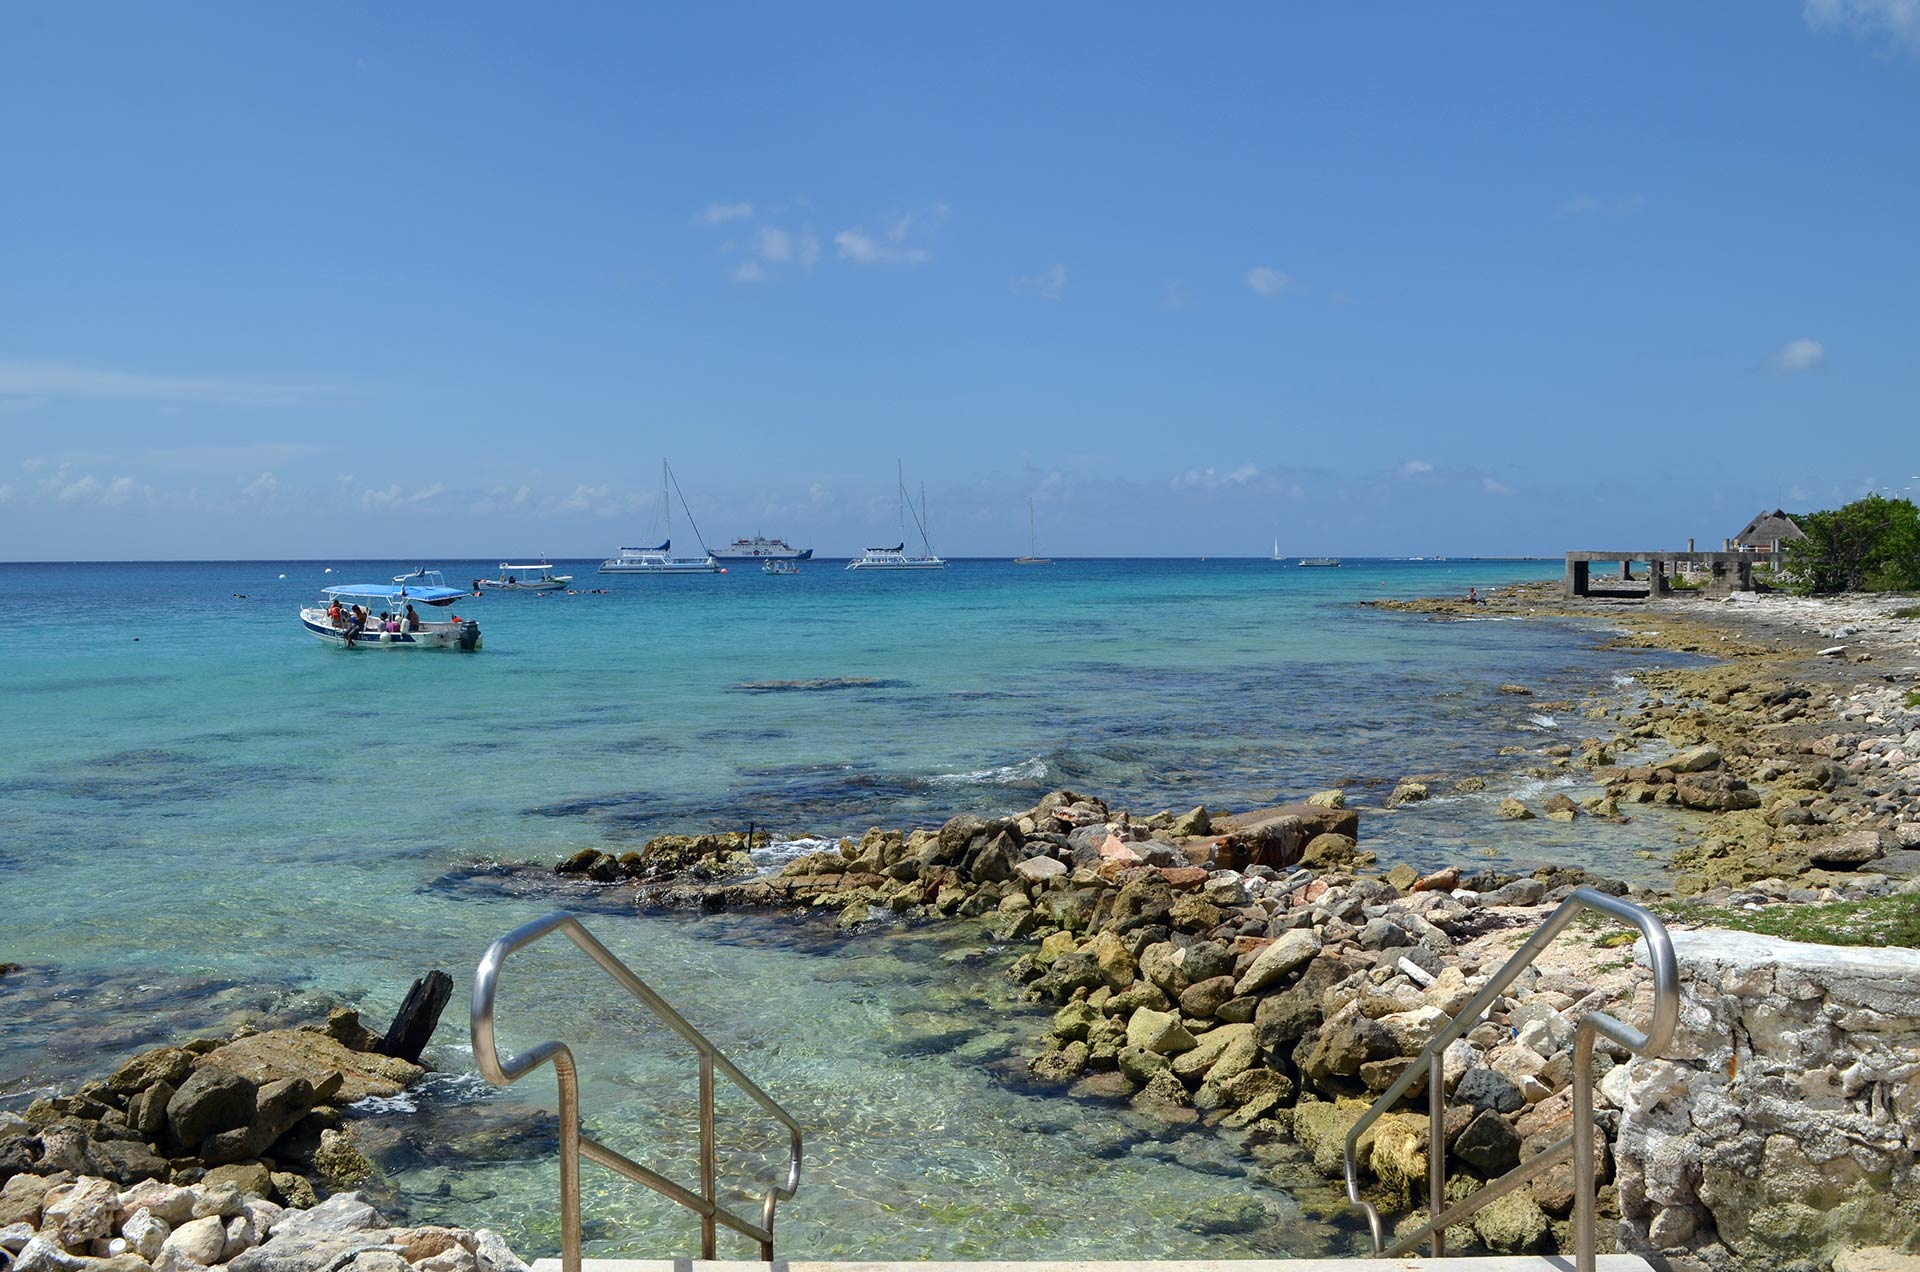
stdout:
{"type": "Polygon", "coordinates": [[[1599,1084],[1622,1109],[1620,1245],[1676,1272],[1920,1255],[1920,951],[1745,932],[1674,949],[1668,1057],[1599,1084]]]}

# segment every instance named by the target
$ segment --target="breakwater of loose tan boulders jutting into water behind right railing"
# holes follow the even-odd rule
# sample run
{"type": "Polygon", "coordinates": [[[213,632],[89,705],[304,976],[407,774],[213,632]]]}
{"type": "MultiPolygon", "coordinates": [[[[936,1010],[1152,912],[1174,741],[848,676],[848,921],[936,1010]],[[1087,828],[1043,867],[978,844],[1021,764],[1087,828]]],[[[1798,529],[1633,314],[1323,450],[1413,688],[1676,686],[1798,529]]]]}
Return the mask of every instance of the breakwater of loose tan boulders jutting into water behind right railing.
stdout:
{"type": "MultiPolygon", "coordinates": [[[[1054,1009],[1029,1049],[1037,1084],[1125,1101],[1229,1136],[1256,1166],[1340,1178],[1346,1132],[1436,1030],[1576,884],[1396,867],[1367,874],[1359,819],[1338,792],[1238,817],[1135,819],[1054,792],[1016,817],[870,830],[778,874],[714,878],[680,845],[636,870],[643,903],[975,920],[1008,945],[1008,974],[1054,1009]]],[[[651,845],[649,845],[651,847],[651,845]]],[[[718,853],[739,851],[718,847],[718,853]]],[[[639,855],[641,859],[647,853],[639,855]]],[[[1630,993],[1630,959],[1567,938],[1446,1053],[1450,1195],[1567,1132],[1582,1013],[1630,993]]],[[[1609,1070],[1624,1055],[1597,1055],[1609,1070]]],[[[1425,1107],[1413,1088],[1409,1109],[1425,1107]]],[[[1601,1118],[1611,1118],[1603,1111],[1601,1118]]],[[[1388,1207],[1425,1191],[1427,1118],[1392,1113],[1359,1145],[1388,1207]]],[[[1603,1155],[1601,1178],[1611,1178],[1603,1155]]],[[[1296,1178],[1296,1176],[1294,1176],[1296,1178]]],[[[1611,1209],[1611,1189],[1603,1197],[1611,1209]]],[[[1571,1164],[1482,1211],[1453,1249],[1571,1249],[1571,1164]]]]}

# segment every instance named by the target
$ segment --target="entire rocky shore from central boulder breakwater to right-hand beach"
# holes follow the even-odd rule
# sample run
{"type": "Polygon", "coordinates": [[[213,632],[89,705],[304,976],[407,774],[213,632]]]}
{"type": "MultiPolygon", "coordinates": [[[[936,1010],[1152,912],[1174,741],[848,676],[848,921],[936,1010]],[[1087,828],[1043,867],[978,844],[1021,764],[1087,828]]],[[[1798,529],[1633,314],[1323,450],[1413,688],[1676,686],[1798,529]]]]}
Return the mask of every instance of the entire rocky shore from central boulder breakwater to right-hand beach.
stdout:
{"type": "MultiPolygon", "coordinates": [[[[1430,621],[1603,619],[1624,628],[1613,644],[1713,655],[1705,667],[1642,674],[1645,696],[1555,703],[1578,711],[1590,736],[1534,749],[1530,772],[1578,774],[1596,792],[1561,792],[1538,811],[1503,799],[1494,811],[1619,820],[1647,805],[1682,809],[1690,820],[1668,861],[1670,886],[1574,867],[1379,870],[1338,790],[1238,817],[1133,815],[1054,792],[1012,815],[874,828],[774,874],[737,834],[659,836],[622,857],[586,849],[557,870],[630,888],[641,907],[774,909],[862,930],[972,922],[1004,949],[1029,1001],[1054,1007],[1027,1057],[1033,1082],[1127,1101],[1173,1126],[1217,1128],[1261,1162],[1311,1162],[1327,1178],[1342,1174],[1346,1132],[1367,1103],[1574,886],[1632,893],[1676,928],[1732,917],[1768,930],[1772,917],[1801,940],[1884,942],[1891,932],[1895,943],[1920,942],[1910,667],[1920,659],[1912,623],[1891,605],[1680,598],[1572,607],[1549,586],[1505,588],[1482,605],[1377,605],[1430,621]],[[1645,751],[1661,755],[1620,763],[1645,751]],[[1866,918],[1887,930],[1836,928],[1847,907],[1880,903],[1887,909],[1866,918]]],[[[1505,692],[1528,694],[1519,684],[1505,692]]],[[[1459,790],[1486,782],[1455,780],[1459,790]]],[[[1432,784],[1407,776],[1369,817],[1430,797],[1432,784]]],[[[1630,945],[1630,934],[1576,926],[1448,1049],[1450,1199],[1567,1134],[1576,1020],[1596,1009],[1638,1018],[1645,976],[1630,945]]],[[[1609,1143],[1632,1101],[1626,1059],[1605,1041],[1596,1055],[1609,1143]]],[[[1920,1082],[1889,1064],[1910,1103],[1920,1082]]],[[[1413,1099],[1425,1103],[1421,1086],[1413,1099]]],[[[1425,1193],[1428,1126],[1413,1107],[1379,1120],[1359,1145],[1382,1209],[1407,1211],[1425,1193]]],[[[1901,1195],[1920,1187],[1910,1149],[1905,1162],[1901,1195]]],[[[1601,1212],[1624,1220],[1626,1245],[1670,1266],[1780,1266],[1778,1247],[1747,1230],[1734,1237],[1732,1220],[1716,1230],[1699,1199],[1649,1207],[1640,1162],[1622,1170],[1634,1184],[1628,1197],[1613,1184],[1611,1149],[1597,1166],[1601,1212]],[[1686,1224],[1672,1218],[1680,1214],[1686,1224]]],[[[1572,1168],[1563,1164],[1450,1232],[1450,1249],[1571,1251],[1571,1207],[1572,1168]]],[[[1920,1220],[1895,1228],[1887,1241],[1920,1245],[1920,1220]]],[[[1824,1268],[1834,1253],[1809,1249],[1795,1266],[1824,1268]]]]}

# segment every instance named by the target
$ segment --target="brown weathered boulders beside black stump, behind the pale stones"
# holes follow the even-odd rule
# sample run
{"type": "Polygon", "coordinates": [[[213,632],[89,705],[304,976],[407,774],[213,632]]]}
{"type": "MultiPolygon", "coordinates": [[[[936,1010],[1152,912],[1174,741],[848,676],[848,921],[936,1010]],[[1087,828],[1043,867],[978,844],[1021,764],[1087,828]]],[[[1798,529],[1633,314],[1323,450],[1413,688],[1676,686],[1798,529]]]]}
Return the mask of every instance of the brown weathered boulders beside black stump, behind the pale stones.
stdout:
{"type": "MultiPolygon", "coordinates": [[[[56,1176],[232,1184],[313,1205],[317,1191],[372,1172],[342,1109],[397,1095],[424,1072],[384,1055],[353,1011],[334,1011],[324,1028],[159,1047],[69,1095],[33,1101],[25,1116],[0,1114],[0,1184],[10,1199],[56,1176]]],[[[27,1205],[6,1203],[0,1222],[19,1222],[27,1205]]]]}

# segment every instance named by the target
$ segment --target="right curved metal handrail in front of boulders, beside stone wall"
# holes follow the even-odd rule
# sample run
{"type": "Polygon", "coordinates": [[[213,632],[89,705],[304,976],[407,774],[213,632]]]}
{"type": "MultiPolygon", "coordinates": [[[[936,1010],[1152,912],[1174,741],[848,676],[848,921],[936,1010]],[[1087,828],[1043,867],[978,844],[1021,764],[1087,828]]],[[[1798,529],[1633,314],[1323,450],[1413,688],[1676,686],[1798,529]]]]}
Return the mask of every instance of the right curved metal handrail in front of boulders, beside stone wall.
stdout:
{"type": "Polygon", "coordinates": [[[1407,1064],[1407,1072],[1400,1074],[1394,1086],[1373,1101],[1373,1107],[1354,1128],[1346,1134],[1346,1197],[1354,1205],[1367,1212],[1367,1224],[1373,1230],[1373,1251],[1377,1255],[1404,1255],[1411,1251],[1421,1241],[1432,1243],[1434,1259],[1446,1255],[1446,1230],[1452,1224],[1476,1212],[1480,1207],[1500,1201],[1513,1189],[1530,1182],[1532,1178],[1544,1174],[1551,1166],[1559,1164],[1572,1155],[1572,1220],[1574,1220],[1574,1266],[1578,1272],[1594,1272],[1594,1036],[1605,1034],[1613,1041],[1620,1043],[1636,1055],[1659,1055],[1667,1043],[1672,1040],[1674,1024],[1680,1018],[1680,970],[1674,963],[1674,945],[1667,936],[1667,926],[1659,918],[1649,915],[1645,909],[1634,905],[1632,901],[1622,901],[1619,897],[1609,897],[1603,892],[1592,888],[1574,888],[1572,895],[1561,901],[1559,909],[1548,915],[1548,920],[1534,932],[1524,945],[1513,951],[1513,957],[1494,974],[1486,986],[1480,988],[1473,999],[1442,1028],[1434,1034],[1432,1041],[1407,1064]],[[1647,942],[1647,963],[1653,968],[1653,1020],[1647,1032],[1615,1020],[1607,1013],[1590,1011],[1580,1016],[1580,1024],[1574,1030],[1572,1041],[1572,1134],[1555,1141],[1551,1147],[1534,1153],[1524,1162],[1484,1184],[1473,1195],[1442,1209],[1446,1199],[1446,1082],[1442,1070],[1442,1053],[1448,1045],[1480,1022],[1486,1009],[1494,1005],[1513,980],[1532,965],[1540,953],[1553,943],[1567,924],[1574,920],[1580,911],[1599,911],[1622,922],[1640,928],[1640,934],[1647,942]],[[1427,1072],[1427,1224],[1419,1232],[1411,1232],[1392,1245],[1384,1243],[1380,1232],[1380,1214],[1371,1203],[1363,1201],[1359,1195],[1359,1168],[1356,1164],[1356,1153],[1359,1151],[1359,1137],[1369,1126],[1373,1126],[1382,1113],[1392,1109],[1402,1095],[1419,1080],[1421,1072],[1427,1072]]]}

